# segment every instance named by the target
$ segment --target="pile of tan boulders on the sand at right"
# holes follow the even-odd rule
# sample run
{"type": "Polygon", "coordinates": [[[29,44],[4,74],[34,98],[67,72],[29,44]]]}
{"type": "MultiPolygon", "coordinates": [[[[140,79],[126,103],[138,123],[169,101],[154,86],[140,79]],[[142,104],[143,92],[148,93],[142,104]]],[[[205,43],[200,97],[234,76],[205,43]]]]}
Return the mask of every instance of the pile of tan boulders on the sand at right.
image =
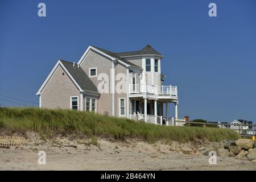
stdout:
{"type": "Polygon", "coordinates": [[[235,142],[229,140],[223,145],[202,149],[203,147],[200,147],[199,151],[203,152],[204,155],[208,155],[209,151],[216,151],[217,156],[256,160],[256,148],[253,148],[253,141],[251,139],[238,139],[235,142]]]}

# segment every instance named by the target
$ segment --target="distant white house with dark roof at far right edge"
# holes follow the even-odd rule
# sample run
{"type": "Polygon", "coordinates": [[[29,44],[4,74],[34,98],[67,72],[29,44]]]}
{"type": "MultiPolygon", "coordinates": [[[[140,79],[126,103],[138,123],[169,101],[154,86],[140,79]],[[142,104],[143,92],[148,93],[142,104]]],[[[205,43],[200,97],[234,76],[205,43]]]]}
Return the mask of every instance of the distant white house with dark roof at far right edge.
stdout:
{"type": "Polygon", "coordinates": [[[244,119],[235,119],[234,121],[231,122],[231,124],[233,125],[230,125],[230,129],[236,130],[238,133],[240,129],[241,130],[240,134],[250,134],[250,135],[254,134],[253,126],[240,126],[240,125],[247,125],[247,124],[252,125],[253,124],[252,121],[246,121],[244,119]]]}

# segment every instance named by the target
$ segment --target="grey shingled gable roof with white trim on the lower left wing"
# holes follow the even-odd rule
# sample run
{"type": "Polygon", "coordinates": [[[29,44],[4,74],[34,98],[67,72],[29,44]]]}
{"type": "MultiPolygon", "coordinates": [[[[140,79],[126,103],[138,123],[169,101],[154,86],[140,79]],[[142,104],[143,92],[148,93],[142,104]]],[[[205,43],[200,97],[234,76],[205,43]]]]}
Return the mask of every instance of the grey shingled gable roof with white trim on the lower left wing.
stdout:
{"type": "Polygon", "coordinates": [[[59,66],[61,66],[64,69],[64,71],[67,72],[67,75],[69,76],[69,78],[71,78],[71,80],[80,90],[80,92],[89,91],[93,93],[98,93],[96,86],[86,75],[86,73],[82,70],[82,68],[78,68],[77,64],[75,64],[75,67],[73,67],[73,63],[64,60],[59,60],[53,67],[51,73],[49,73],[49,75],[47,76],[46,80],[43,82],[42,86],[39,88],[36,95],[39,95],[43,92],[43,89],[48,84],[49,80],[54,75],[56,69],[59,66]]]}

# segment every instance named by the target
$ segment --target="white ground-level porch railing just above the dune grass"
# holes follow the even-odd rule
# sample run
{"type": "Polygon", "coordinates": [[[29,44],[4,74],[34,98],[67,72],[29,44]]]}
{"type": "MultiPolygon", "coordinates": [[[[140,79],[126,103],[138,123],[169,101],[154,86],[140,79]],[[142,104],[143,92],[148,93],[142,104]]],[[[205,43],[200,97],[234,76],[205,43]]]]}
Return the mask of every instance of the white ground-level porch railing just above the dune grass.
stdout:
{"type": "MultiPolygon", "coordinates": [[[[144,122],[144,114],[130,114],[130,119],[137,122],[144,122]]],[[[159,115],[147,114],[147,123],[162,125],[163,117],[159,115]]]]}

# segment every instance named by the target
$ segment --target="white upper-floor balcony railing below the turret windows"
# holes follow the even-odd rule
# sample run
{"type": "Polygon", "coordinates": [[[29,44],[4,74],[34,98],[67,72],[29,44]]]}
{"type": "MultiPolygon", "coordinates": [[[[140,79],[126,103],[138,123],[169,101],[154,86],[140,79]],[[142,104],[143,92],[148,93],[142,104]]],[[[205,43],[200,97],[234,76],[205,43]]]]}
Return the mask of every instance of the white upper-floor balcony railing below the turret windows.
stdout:
{"type": "Polygon", "coordinates": [[[159,96],[177,96],[177,86],[155,86],[148,84],[132,84],[130,85],[130,94],[150,93],[159,96]]]}

